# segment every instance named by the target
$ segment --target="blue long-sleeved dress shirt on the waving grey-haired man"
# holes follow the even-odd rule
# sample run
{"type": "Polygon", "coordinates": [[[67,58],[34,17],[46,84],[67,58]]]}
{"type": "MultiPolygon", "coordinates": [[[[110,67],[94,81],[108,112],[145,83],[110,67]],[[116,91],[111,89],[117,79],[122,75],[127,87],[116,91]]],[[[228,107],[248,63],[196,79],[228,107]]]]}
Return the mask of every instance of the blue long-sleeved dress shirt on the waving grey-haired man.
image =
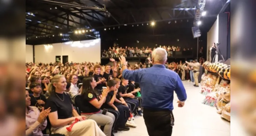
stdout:
{"type": "Polygon", "coordinates": [[[150,68],[128,70],[122,73],[123,78],[140,84],[142,106],[152,110],[173,110],[173,92],[180,101],[187,99],[186,90],[179,75],[164,65],[153,65],[150,68]]]}

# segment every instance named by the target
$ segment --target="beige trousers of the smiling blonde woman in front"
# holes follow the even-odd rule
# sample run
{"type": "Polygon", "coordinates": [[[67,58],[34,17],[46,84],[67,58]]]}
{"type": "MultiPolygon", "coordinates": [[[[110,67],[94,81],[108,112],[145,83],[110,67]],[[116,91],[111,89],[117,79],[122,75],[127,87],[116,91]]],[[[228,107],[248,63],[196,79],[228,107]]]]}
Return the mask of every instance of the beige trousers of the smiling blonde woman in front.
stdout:
{"type": "Polygon", "coordinates": [[[68,132],[66,129],[69,126],[53,129],[52,133],[59,133],[65,136],[106,136],[92,119],[77,122],[73,125],[71,132],[68,132]]]}

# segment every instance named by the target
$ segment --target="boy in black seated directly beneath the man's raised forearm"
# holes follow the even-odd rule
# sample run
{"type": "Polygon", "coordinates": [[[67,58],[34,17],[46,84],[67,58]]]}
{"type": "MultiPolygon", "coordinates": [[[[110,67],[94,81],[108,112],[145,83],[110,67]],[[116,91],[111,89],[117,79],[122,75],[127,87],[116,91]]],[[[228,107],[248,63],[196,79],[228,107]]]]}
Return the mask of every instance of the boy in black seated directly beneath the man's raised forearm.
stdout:
{"type": "Polygon", "coordinates": [[[131,104],[131,112],[135,114],[139,105],[139,101],[133,99],[135,98],[135,96],[132,93],[127,93],[126,86],[128,85],[129,81],[122,78],[121,82],[122,82],[122,85],[118,88],[118,92],[120,96],[124,98],[126,103],[131,104]]]}

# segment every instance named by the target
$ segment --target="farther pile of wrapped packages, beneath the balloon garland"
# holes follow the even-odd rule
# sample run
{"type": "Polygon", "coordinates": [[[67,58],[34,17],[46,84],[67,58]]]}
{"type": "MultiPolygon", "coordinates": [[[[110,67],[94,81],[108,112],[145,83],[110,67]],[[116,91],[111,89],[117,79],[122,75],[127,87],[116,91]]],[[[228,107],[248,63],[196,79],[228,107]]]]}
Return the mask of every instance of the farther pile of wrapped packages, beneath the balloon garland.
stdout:
{"type": "Polygon", "coordinates": [[[216,84],[217,77],[215,75],[212,75],[211,73],[208,74],[203,74],[202,75],[202,80],[201,80],[201,94],[207,95],[211,93],[214,89],[214,86],[216,84]]]}

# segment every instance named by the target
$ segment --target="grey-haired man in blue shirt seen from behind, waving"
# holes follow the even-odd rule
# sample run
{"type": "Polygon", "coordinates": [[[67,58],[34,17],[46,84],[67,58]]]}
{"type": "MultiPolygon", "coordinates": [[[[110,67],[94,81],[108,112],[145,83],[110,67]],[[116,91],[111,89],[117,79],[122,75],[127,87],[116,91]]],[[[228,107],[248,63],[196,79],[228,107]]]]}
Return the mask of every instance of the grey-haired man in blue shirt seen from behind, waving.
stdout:
{"type": "Polygon", "coordinates": [[[184,106],[187,94],[179,75],[164,66],[167,62],[165,49],[157,48],[152,52],[153,66],[146,69],[128,70],[125,57],[119,59],[123,78],[140,84],[143,117],[149,136],[171,136],[173,92],[178,96],[178,107],[184,106]]]}

